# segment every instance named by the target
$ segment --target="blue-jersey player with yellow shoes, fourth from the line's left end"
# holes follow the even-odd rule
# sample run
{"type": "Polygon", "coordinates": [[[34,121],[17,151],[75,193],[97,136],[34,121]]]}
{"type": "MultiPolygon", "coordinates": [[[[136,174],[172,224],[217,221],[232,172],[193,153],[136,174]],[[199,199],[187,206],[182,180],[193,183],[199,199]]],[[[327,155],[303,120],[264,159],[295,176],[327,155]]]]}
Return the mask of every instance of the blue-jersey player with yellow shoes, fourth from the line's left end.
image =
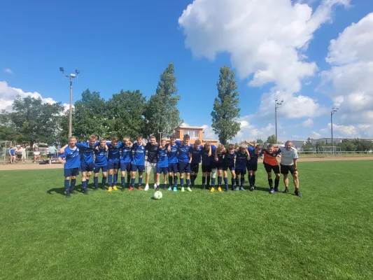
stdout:
{"type": "Polygon", "coordinates": [[[120,148],[123,142],[118,142],[118,137],[113,137],[111,142],[106,142],[106,145],[108,146],[108,192],[110,193],[112,190],[118,190],[117,181],[120,165],[120,148]]]}

